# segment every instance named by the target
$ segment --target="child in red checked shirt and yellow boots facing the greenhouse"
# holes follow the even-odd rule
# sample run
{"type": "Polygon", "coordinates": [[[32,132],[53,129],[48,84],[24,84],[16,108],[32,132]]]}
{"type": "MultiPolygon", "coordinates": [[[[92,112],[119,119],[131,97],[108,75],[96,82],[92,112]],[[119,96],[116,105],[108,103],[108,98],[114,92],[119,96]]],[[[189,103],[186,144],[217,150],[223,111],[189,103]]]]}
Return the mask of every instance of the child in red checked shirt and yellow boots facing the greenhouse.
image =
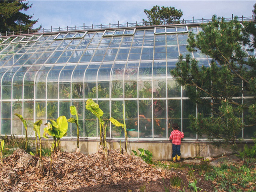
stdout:
{"type": "Polygon", "coordinates": [[[172,159],[173,162],[176,162],[176,155],[177,155],[177,161],[180,162],[180,144],[181,139],[184,137],[184,133],[180,132],[178,124],[174,123],[172,124],[173,131],[171,132],[169,140],[172,140],[172,159]]]}

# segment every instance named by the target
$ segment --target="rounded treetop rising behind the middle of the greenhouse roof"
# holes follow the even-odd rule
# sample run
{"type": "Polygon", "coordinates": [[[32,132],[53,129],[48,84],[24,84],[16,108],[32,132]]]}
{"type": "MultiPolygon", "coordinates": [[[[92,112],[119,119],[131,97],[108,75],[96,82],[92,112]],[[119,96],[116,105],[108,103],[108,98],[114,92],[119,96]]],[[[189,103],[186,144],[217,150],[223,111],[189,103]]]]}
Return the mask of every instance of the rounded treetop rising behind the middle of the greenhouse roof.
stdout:
{"type": "Polygon", "coordinates": [[[164,7],[161,9],[158,5],[154,6],[150,10],[145,9],[148,17],[148,21],[143,19],[144,25],[163,25],[179,23],[181,16],[183,15],[181,10],[175,9],[175,7],[164,7]]]}

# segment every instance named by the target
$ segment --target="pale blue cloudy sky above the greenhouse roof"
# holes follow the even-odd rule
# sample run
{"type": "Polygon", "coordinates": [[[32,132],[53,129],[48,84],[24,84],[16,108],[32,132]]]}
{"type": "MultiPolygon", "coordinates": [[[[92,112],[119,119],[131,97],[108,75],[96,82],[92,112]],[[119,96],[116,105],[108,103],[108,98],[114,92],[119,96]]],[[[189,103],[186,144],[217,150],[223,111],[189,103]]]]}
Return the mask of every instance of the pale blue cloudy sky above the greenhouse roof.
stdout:
{"type": "Polygon", "coordinates": [[[120,23],[136,23],[147,20],[144,9],[150,10],[153,6],[175,7],[181,10],[181,20],[210,19],[213,14],[220,17],[252,16],[255,1],[146,1],[146,0],[29,0],[32,4],[24,13],[33,15],[33,20],[39,19],[34,28],[42,25],[42,29],[64,28],[75,26],[106,25],[120,23]]]}

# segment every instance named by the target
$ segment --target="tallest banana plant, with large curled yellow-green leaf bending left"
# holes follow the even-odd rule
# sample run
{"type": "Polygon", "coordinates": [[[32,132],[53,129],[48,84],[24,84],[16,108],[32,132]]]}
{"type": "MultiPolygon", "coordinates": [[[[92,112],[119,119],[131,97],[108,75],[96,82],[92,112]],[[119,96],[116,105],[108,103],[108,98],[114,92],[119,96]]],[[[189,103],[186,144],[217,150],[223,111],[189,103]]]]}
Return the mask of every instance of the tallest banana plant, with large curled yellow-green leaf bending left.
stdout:
{"type": "Polygon", "coordinates": [[[92,99],[88,99],[86,101],[85,108],[92,112],[93,115],[95,115],[100,122],[100,145],[103,145],[103,148],[107,148],[107,139],[106,139],[106,130],[107,125],[105,125],[105,121],[101,118],[103,116],[103,111],[99,108],[99,105],[95,103],[92,99]],[[102,132],[103,128],[103,132],[102,132]]]}

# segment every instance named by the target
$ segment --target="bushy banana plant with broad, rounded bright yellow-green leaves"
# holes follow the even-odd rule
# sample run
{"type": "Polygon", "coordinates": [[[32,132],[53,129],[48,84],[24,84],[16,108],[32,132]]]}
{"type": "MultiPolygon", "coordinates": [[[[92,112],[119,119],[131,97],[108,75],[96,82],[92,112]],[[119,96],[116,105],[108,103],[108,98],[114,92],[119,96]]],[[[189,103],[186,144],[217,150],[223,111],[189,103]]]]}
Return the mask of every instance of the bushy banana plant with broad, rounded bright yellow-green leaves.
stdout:
{"type": "Polygon", "coordinates": [[[48,122],[47,126],[44,128],[43,137],[48,139],[47,135],[53,137],[54,151],[60,150],[60,139],[67,135],[68,131],[68,121],[65,116],[59,116],[57,121],[50,119],[51,123],[48,122]],[[57,139],[57,141],[56,141],[57,139]]]}

